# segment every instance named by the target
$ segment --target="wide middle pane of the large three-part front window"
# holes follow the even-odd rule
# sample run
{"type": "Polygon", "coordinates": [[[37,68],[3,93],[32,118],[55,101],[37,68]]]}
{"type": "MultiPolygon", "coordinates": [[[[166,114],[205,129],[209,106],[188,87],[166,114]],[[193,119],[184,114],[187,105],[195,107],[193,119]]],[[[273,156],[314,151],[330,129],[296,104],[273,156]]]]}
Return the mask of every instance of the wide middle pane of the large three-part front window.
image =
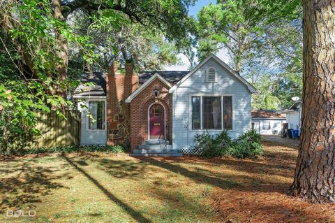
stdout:
{"type": "Polygon", "coordinates": [[[202,97],[202,129],[221,129],[221,97],[202,97]]]}

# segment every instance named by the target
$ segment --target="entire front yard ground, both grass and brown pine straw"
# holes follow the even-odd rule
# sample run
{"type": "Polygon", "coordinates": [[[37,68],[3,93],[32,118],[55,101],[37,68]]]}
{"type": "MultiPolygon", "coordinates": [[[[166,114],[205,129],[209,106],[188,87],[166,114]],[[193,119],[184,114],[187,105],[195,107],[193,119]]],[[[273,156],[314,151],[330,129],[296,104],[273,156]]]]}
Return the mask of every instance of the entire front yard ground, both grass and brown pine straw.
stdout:
{"type": "Polygon", "coordinates": [[[288,196],[297,148],[259,159],[103,152],[3,158],[0,222],[333,222],[335,208],[288,196]],[[6,210],[36,217],[6,217],[6,210]]]}

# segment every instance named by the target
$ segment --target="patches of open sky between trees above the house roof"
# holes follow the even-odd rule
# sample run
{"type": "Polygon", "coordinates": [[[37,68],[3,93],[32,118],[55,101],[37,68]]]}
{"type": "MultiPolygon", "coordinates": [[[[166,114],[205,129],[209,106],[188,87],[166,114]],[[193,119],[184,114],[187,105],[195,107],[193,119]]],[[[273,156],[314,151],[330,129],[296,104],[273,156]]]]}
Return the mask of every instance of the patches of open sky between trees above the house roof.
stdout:
{"type": "MultiPolygon", "coordinates": [[[[203,6],[208,6],[210,3],[216,3],[216,0],[198,0],[197,3],[195,3],[195,6],[192,6],[189,8],[188,13],[196,17],[197,13],[201,10],[201,8],[203,6]]],[[[229,59],[227,50],[219,50],[216,56],[222,59],[223,62],[225,62],[226,64],[229,64],[230,59],[229,59]]],[[[165,66],[164,69],[166,71],[187,71],[188,66],[190,66],[188,59],[184,55],[181,55],[181,54],[178,55],[178,58],[179,58],[179,62],[177,65],[165,66]]]]}

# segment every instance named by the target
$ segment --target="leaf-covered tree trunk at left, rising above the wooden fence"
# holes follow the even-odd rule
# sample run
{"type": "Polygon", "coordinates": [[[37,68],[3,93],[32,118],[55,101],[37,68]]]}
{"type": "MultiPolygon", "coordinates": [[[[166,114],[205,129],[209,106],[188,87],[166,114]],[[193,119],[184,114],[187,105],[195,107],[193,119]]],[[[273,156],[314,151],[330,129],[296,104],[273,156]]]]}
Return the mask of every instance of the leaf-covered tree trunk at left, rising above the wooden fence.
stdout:
{"type": "MultiPolygon", "coordinates": [[[[61,13],[61,0],[54,0],[54,18],[65,22],[66,19],[61,13]]],[[[58,80],[64,82],[68,77],[68,41],[61,32],[55,29],[55,40],[56,40],[56,57],[57,57],[57,72],[58,80]]],[[[57,87],[56,90],[59,96],[63,96],[66,99],[66,89],[62,89],[61,86],[57,87]]]]}

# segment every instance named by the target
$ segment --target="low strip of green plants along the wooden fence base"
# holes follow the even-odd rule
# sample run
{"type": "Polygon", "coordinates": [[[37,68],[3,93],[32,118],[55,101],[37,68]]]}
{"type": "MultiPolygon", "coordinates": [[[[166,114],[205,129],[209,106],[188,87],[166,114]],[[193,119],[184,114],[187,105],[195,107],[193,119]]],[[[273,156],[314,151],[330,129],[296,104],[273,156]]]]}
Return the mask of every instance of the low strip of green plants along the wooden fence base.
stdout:
{"type": "MultiPolygon", "coordinates": [[[[53,153],[53,152],[111,152],[111,153],[125,153],[128,152],[128,148],[122,147],[121,145],[73,145],[73,146],[59,146],[56,148],[37,148],[37,149],[25,149],[15,152],[15,155],[23,154],[40,154],[40,153],[53,153]]],[[[6,153],[2,153],[6,154],[6,153]]]]}

